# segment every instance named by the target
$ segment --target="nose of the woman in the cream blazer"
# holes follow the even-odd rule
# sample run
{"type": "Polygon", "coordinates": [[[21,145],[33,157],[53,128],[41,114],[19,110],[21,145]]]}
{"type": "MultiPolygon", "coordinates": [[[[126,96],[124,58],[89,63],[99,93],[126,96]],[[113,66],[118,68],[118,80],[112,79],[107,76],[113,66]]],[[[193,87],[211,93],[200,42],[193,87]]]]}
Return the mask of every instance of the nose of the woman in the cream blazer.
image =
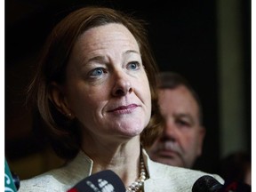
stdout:
{"type": "Polygon", "coordinates": [[[114,78],[112,94],[114,96],[124,96],[129,92],[132,92],[130,77],[125,73],[117,72],[114,78]]]}

